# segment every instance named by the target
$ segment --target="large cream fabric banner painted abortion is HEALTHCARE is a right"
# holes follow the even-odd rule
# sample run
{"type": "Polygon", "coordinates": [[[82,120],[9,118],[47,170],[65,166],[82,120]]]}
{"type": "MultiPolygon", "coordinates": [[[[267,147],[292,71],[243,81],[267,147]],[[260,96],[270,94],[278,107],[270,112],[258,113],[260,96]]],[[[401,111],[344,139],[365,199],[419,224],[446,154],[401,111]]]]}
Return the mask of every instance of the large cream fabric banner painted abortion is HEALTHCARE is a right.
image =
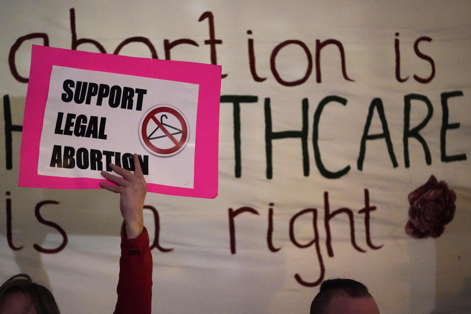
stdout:
{"type": "Polygon", "coordinates": [[[19,188],[20,126],[32,44],[113,53],[137,37],[119,54],[227,74],[218,197],[146,199],[153,313],[307,313],[315,282],[335,277],[364,282],[381,313],[468,313],[470,15],[466,0],[1,1],[1,280],[29,273],[63,313],[114,309],[116,195],[19,188]],[[418,239],[408,194],[431,175],[456,212],[418,239]],[[375,209],[359,212],[365,190],[375,209]]]}

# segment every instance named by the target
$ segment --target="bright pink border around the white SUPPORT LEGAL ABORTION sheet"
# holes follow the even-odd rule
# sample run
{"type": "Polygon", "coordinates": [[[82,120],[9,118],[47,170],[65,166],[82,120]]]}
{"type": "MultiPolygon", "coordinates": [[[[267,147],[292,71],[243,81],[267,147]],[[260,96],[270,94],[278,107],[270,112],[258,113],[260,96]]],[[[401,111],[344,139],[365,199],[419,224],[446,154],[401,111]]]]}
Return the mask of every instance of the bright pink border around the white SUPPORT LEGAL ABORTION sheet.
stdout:
{"type": "Polygon", "coordinates": [[[202,198],[217,196],[220,66],[81,52],[37,45],[33,45],[31,51],[18,186],[98,189],[101,188],[99,182],[106,182],[105,179],[38,175],[39,142],[53,65],[199,84],[193,188],[149,183],[148,191],[202,198]]]}

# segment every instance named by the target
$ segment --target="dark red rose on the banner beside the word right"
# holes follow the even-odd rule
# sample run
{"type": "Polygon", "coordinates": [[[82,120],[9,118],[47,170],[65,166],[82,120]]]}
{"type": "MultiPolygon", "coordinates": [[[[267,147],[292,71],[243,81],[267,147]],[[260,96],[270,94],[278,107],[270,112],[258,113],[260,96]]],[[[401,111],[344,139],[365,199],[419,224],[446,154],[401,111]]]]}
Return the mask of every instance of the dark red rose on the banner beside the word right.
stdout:
{"type": "Polygon", "coordinates": [[[409,221],[405,231],[415,238],[438,237],[455,215],[456,194],[445,181],[432,175],[427,183],[409,193],[409,221]]]}

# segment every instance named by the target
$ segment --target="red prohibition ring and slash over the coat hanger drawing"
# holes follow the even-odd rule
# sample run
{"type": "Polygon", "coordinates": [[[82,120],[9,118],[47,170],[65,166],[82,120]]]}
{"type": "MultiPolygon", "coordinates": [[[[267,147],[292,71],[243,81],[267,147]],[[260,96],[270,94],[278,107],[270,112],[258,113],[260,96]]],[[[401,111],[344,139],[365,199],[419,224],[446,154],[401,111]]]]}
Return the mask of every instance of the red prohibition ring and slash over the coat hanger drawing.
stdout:
{"type": "Polygon", "coordinates": [[[144,120],[142,121],[141,137],[142,137],[142,141],[153,152],[155,152],[157,154],[160,154],[160,155],[170,155],[170,154],[173,154],[175,152],[178,152],[183,147],[183,145],[185,144],[186,138],[188,137],[188,127],[186,126],[186,121],[185,121],[185,119],[183,118],[183,116],[180,112],[178,112],[177,110],[175,110],[174,108],[171,108],[171,107],[161,106],[161,107],[157,107],[157,108],[151,110],[145,116],[144,120]],[[177,139],[175,139],[175,137],[173,137],[173,135],[171,135],[165,129],[165,127],[163,127],[160,124],[158,119],[155,117],[156,114],[158,114],[160,112],[171,113],[180,122],[180,124],[182,126],[182,137],[180,138],[179,141],[177,141],[177,139]],[[148,125],[150,120],[153,120],[160,127],[160,129],[174,142],[174,144],[175,144],[174,147],[171,147],[171,148],[158,148],[157,146],[155,146],[154,144],[151,143],[151,141],[149,140],[149,138],[147,136],[147,125],[148,125]]]}

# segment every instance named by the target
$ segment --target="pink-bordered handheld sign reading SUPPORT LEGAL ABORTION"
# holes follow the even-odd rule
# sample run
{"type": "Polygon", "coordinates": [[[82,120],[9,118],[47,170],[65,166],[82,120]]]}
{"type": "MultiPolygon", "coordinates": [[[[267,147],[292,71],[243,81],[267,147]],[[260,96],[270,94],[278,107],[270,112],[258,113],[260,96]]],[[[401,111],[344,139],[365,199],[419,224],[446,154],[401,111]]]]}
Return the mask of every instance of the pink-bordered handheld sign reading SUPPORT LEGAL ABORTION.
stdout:
{"type": "Polygon", "coordinates": [[[20,186],[99,188],[110,163],[149,191],[217,195],[221,68],[33,46],[20,186]]]}

